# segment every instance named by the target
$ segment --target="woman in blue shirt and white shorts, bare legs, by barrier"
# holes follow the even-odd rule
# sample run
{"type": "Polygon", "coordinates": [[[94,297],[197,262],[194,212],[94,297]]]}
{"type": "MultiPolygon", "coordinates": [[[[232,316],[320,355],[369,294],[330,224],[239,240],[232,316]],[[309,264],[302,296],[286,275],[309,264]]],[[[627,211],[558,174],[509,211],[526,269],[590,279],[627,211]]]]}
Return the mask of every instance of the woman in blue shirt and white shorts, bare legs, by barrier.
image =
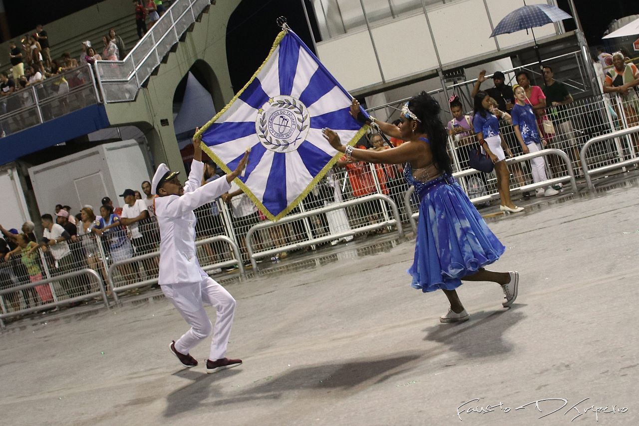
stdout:
{"type": "Polygon", "coordinates": [[[523,207],[517,207],[511,200],[510,172],[504,161],[506,159],[504,148],[508,149],[508,146],[499,132],[497,117],[490,112],[490,97],[485,91],[479,91],[475,95],[474,101],[475,116],[473,118],[473,127],[475,133],[477,133],[479,145],[495,163],[497,190],[501,199],[499,209],[508,213],[521,212],[523,207]]]}

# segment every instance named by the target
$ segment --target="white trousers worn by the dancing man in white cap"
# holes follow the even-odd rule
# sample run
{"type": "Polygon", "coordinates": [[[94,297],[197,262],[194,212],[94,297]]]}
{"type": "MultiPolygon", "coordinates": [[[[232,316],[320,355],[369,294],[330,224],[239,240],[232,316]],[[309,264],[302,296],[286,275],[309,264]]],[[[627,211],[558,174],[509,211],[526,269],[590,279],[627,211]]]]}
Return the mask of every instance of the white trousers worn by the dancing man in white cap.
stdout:
{"type": "Polygon", "coordinates": [[[176,351],[188,354],[197,343],[213,333],[208,359],[215,361],[224,358],[235,314],[233,296],[210,277],[204,278],[199,283],[162,285],[161,287],[164,296],[173,302],[173,306],[191,326],[189,331],[175,342],[176,351]],[[210,304],[217,311],[215,327],[206,315],[204,304],[210,304]]]}

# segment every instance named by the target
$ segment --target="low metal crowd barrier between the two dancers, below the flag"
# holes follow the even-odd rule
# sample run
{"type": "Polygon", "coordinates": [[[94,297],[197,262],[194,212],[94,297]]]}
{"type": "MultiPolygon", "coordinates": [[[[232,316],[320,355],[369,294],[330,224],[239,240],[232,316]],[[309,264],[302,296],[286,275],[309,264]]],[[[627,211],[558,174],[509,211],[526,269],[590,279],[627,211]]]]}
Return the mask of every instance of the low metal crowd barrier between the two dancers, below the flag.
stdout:
{"type": "Polygon", "coordinates": [[[247,234],[246,234],[246,248],[247,248],[247,253],[249,255],[249,258],[250,258],[250,263],[253,266],[253,269],[255,271],[257,271],[258,270],[258,263],[256,262],[256,260],[258,258],[263,258],[263,257],[268,257],[270,255],[275,255],[277,253],[281,253],[282,251],[305,248],[305,247],[308,247],[308,246],[313,246],[315,244],[321,244],[323,242],[329,242],[329,241],[333,241],[333,240],[340,239],[340,238],[343,238],[343,237],[349,237],[350,235],[369,232],[371,230],[385,228],[386,226],[392,226],[392,225],[395,225],[397,227],[397,232],[399,233],[399,236],[403,238],[404,237],[404,229],[403,229],[403,226],[401,224],[401,219],[399,217],[399,210],[397,209],[397,204],[395,203],[395,201],[393,201],[387,195],[373,194],[373,195],[367,195],[367,196],[364,196],[364,197],[361,197],[361,198],[357,198],[355,200],[344,201],[343,203],[336,203],[334,205],[327,205],[326,207],[320,207],[319,209],[313,209],[313,210],[309,210],[307,212],[302,212],[302,213],[298,213],[298,214],[293,214],[291,216],[282,217],[282,219],[280,219],[277,222],[265,221],[265,222],[262,222],[262,223],[258,223],[257,225],[251,226],[251,228],[249,229],[249,232],[247,232],[247,234]],[[350,206],[353,206],[353,205],[364,204],[364,203],[367,203],[368,201],[371,201],[371,200],[383,200],[383,201],[385,201],[390,206],[390,209],[392,209],[392,214],[393,214],[394,219],[385,219],[385,220],[382,220],[382,221],[380,221],[378,223],[372,223],[370,225],[361,226],[360,228],[351,228],[350,230],[348,230],[346,232],[332,233],[330,235],[327,235],[326,237],[313,238],[312,235],[309,235],[309,240],[308,241],[295,242],[293,244],[287,244],[287,245],[284,245],[284,246],[268,249],[268,250],[265,250],[265,251],[260,251],[259,253],[256,253],[254,248],[253,248],[253,246],[254,246],[253,236],[254,236],[254,234],[256,232],[258,232],[258,230],[271,228],[272,226],[284,225],[284,224],[289,223],[289,222],[293,222],[293,221],[296,221],[296,220],[299,220],[299,219],[304,219],[305,217],[316,216],[318,214],[331,212],[333,210],[345,209],[346,207],[350,207],[350,206]]]}

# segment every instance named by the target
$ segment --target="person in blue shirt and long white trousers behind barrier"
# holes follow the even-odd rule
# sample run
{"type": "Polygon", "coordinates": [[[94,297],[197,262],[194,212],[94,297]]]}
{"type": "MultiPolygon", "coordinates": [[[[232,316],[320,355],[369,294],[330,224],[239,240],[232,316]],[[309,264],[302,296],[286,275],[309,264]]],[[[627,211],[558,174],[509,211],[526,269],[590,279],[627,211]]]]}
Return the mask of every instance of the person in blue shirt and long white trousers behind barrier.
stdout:
{"type": "MultiPolygon", "coordinates": [[[[515,135],[521,145],[524,154],[529,152],[541,151],[542,145],[546,146],[546,139],[541,138],[541,130],[532,106],[526,103],[526,91],[521,86],[515,86],[515,106],[512,107],[512,126],[515,129],[515,135]]],[[[543,182],[548,180],[546,176],[546,162],[544,157],[536,157],[530,160],[530,168],[532,170],[533,182],[543,182]]],[[[559,191],[548,186],[546,189],[537,188],[537,197],[557,195],[559,191]]]]}

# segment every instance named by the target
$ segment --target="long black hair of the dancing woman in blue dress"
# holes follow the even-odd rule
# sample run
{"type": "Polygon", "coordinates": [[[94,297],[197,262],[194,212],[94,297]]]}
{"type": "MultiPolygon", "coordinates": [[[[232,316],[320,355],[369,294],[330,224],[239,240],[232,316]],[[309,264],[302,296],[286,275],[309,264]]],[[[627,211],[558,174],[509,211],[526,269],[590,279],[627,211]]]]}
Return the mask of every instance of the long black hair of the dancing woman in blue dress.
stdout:
{"type": "Polygon", "coordinates": [[[440,111],[442,111],[440,104],[431,95],[422,91],[408,101],[408,109],[422,120],[417,122],[417,130],[428,135],[436,168],[452,175],[450,157],[446,149],[448,133],[439,117],[440,111]]]}

